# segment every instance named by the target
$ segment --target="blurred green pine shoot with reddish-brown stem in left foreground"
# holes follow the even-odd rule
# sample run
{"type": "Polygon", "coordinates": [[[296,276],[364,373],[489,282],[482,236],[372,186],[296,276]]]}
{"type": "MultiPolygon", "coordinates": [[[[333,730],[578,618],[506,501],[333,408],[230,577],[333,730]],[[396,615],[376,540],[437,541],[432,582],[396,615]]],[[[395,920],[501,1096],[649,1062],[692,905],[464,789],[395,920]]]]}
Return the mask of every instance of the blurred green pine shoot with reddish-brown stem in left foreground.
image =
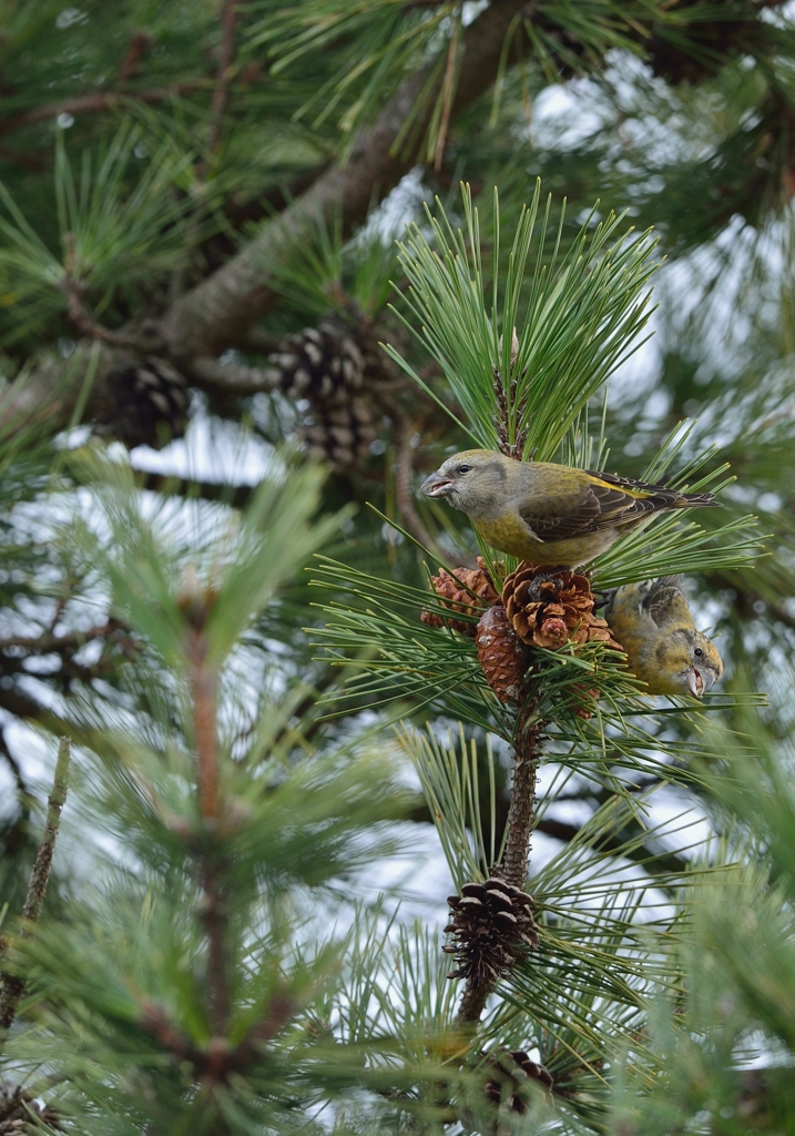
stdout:
{"type": "Polygon", "coordinates": [[[290,696],[263,699],[253,734],[218,715],[258,609],[334,527],[311,520],[318,470],[275,471],[192,579],[174,570],[173,541],[144,517],[129,471],[94,460],[94,475],[112,604],[182,712],[152,699],[145,733],[135,718],[94,730],[83,822],[114,852],[68,921],[19,942],[33,1025],[9,1053],[32,1075],[42,1062],[55,1071],[58,1108],[86,1134],[292,1130],[296,1110],[311,1125],[315,1109],[361,1092],[374,1118],[416,1112],[418,1084],[445,1077],[427,1034],[419,1043],[409,1019],[335,1036],[321,1017],[329,999],[350,1006],[338,992],[363,980],[349,952],[357,941],[371,957],[377,907],[327,936],[313,924],[388,853],[378,822],[407,794],[365,736],[301,753],[293,732],[285,747],[290,696]],[[387,1088],[394,1105],[379,1103],[387,1088]]]}

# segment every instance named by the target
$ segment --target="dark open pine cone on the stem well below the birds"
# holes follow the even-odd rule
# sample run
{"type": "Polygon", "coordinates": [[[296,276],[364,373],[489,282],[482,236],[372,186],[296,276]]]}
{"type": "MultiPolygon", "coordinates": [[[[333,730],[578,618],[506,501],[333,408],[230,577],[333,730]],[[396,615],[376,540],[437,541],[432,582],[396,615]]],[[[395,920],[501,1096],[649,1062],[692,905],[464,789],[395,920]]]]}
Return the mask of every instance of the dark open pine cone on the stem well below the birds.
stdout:
{"type": "Polygon", "coordinates": [[[447,903],[452,922],[444,930],[453,942],[442,950],[455,955],[455,969],[447,978],[495,982],[538,945],[533,900],[512,884],[501,879],[465,884],[460,895],[447,896],[447,903]]]}

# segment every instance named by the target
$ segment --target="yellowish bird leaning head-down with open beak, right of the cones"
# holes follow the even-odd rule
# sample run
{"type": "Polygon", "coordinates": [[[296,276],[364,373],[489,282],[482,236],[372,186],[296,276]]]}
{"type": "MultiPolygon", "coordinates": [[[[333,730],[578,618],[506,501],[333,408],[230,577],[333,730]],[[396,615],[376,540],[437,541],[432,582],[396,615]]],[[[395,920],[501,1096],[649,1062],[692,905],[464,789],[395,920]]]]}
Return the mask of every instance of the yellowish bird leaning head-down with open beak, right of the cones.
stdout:
{"type": "Polygon", "coordinates": [[[723,674],[714,643],[696,629],[681,576],[619,587],[604,613],[644,693],[700,699],[723,674]]]}

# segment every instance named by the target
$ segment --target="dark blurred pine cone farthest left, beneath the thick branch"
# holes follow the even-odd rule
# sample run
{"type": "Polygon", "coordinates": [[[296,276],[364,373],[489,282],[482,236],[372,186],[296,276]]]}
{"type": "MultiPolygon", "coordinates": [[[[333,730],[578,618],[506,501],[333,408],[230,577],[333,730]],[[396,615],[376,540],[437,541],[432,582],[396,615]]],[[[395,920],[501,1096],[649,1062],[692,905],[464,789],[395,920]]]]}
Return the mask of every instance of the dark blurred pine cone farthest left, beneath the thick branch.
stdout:
{"type": "Polygon", "coordinates": [[[98,432],[131,450],[136,445],[157,450],[185,433],[187,383],[166,359],[128,358],[111,368],[102,392],[94,409],[98,432]]]}

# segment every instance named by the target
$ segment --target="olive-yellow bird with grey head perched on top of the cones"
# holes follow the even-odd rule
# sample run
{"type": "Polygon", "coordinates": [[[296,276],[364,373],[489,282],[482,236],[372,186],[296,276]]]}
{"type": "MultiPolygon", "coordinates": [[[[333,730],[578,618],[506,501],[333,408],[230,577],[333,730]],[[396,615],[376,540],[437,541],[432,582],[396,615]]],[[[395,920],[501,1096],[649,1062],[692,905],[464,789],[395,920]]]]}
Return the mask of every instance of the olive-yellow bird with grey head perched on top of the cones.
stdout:
{"type": "Polygon", "coordinates": [[[712,493],[680,493],[549,461],[516,461],[493,450],[447,458],[419,491],[446,498],[500,552],[561,568],[593,560],[653,512],[719,503],[712,493]]]}

